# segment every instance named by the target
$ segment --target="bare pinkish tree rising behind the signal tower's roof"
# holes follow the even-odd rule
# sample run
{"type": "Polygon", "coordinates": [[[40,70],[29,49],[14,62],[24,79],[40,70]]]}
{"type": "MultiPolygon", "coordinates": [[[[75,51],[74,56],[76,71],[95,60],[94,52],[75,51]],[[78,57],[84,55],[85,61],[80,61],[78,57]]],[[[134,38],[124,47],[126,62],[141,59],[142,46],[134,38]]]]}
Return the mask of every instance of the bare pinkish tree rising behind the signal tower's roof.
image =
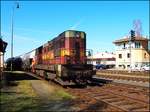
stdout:
{"type": "Polygon", "coordinates": [[[133,29],[136,37],[142,37],[142,22],[139,19],[133,21],[133,29]]]}

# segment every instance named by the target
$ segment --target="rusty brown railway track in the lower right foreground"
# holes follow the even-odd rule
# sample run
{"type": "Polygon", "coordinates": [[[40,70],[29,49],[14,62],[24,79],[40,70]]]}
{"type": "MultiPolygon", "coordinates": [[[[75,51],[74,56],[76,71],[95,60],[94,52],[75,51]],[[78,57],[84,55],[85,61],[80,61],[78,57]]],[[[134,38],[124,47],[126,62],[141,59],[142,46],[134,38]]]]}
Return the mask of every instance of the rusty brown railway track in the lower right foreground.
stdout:
{"type": "Polygon", "coordinates": [[[84,111],[149,111],[149,90],[123,84],[106,84],[84,89],[69,88],[84,111]]]}

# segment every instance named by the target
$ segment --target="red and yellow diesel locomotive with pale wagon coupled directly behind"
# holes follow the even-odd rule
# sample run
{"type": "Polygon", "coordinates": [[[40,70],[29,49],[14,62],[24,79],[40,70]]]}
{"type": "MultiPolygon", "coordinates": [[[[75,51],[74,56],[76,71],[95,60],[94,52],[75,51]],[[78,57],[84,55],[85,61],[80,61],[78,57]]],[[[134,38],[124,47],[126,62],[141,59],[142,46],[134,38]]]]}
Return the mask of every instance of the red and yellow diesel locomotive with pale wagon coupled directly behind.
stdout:
{"type": "Polygon", "coordinates": [[[93,65],[86,63],[86,33],[82,31],[64,31],[21,57],[24,69],[62,85],[86,84],[96,74],[93,65]]]}

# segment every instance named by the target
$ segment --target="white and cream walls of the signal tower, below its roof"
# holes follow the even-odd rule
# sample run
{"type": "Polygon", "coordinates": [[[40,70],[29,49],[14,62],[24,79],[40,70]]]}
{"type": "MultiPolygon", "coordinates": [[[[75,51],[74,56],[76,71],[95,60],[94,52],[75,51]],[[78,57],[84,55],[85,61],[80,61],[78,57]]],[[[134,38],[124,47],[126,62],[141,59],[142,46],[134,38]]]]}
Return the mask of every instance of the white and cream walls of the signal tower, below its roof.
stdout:
{"type": "Polygon", "coordinates": [[[143,64],[149,63],[149,53],[143,48],[142,44],[139,48],[136,48],[135,42],[131,44],[131,51],[129,43],[117,45],[116,47],[116,68],[128,69],[130,64],[131,67],[142,66],[143,64]],[[131,58],[127,57],[130,54],[131,58]],[[122,58],[119,58],[119,54],[122,54],[122,58]]]}

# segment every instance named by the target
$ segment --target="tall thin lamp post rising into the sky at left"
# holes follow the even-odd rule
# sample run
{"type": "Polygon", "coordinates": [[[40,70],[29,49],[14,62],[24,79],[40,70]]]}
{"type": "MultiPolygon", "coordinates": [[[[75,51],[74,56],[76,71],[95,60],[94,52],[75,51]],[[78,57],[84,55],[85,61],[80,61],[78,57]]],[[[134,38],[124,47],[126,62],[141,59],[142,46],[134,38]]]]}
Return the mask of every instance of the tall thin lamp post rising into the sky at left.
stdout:
{"type": "Polygon", "coordinates": [[[15,2],[12,7],[12,23],[11,23],[11,71],[13,70],[13,38],[14,38],[14,12],[15,8],[19,8],[19,3],[15,2]]]}

